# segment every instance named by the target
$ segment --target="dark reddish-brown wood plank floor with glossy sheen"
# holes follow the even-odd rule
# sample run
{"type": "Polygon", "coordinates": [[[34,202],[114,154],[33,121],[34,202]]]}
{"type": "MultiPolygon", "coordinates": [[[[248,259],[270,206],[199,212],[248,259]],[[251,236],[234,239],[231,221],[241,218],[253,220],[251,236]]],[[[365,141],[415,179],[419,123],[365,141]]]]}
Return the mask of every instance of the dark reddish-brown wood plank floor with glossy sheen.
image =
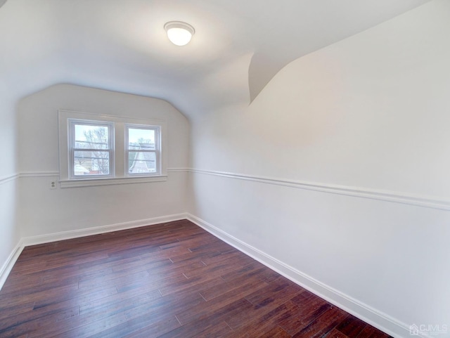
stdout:
{"type": "Polygon", "coordinates": [[[388,337],[189,221],[26,247],[0,337],[388,337]]]}

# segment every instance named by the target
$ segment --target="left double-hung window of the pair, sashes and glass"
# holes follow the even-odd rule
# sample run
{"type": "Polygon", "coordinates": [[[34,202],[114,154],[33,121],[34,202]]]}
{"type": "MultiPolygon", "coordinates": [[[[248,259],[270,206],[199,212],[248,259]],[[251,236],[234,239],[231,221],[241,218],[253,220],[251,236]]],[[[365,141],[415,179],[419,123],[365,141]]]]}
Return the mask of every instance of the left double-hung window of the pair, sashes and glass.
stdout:
{"type": "Polygon", "coordinates": [[[69,120],[70,178],[113,176],[113,123],[69,120]]]}

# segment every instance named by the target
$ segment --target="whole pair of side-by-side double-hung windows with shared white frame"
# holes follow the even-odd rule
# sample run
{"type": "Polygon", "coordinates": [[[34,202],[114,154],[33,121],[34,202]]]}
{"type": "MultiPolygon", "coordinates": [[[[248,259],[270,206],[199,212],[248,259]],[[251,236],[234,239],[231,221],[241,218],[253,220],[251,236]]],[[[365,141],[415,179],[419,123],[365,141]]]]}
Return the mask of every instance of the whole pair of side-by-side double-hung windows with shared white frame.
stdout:
{"type": "Polygon", "coordinates": [[[59,111],[62,188],[165,181],[165,122],[59,111]]]}

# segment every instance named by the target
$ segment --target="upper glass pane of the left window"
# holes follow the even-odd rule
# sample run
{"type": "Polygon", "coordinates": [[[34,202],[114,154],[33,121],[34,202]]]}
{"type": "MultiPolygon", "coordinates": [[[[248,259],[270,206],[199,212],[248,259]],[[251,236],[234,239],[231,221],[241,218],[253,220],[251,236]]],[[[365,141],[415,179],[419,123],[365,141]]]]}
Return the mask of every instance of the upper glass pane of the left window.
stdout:
{"type": "Polygon", "coordinates": [[[75,124],[75,148],[108,149],[108,126],[75,124]]]}

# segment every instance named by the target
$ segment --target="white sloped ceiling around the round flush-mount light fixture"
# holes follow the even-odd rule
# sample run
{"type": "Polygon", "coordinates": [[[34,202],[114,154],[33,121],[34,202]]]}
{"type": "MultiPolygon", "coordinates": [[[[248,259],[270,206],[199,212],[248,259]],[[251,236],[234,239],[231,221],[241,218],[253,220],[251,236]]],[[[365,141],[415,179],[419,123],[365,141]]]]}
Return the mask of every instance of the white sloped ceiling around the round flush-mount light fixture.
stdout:
{"type": "Polygon", "coordinates": [[[290,61],[428,1],[8,0],[0,91],[17,100],[80,84],[165,98],[193,116],[248,104],[290,61]],[[187,46],[167,40],[172,20],[195,27],[187,46]]]}

